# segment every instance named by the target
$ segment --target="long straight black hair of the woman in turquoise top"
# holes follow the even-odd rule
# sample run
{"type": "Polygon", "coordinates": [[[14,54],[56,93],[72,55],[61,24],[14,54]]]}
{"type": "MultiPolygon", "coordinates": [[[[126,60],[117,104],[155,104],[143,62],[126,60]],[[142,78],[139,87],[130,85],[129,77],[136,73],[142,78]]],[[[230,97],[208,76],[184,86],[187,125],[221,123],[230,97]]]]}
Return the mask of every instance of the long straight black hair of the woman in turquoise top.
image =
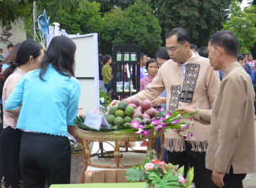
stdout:
{"type": "Polygon", "coordinates": [[[40,65],[39,77],[42,81],[42,77],[46,73],[47,66],[51,63],[53,68],[66,77],[74,77],[73,64],[75,62],[75,42],[66,36],[55,36],[49,47],[47,48],[45,58],[40,65]]]}

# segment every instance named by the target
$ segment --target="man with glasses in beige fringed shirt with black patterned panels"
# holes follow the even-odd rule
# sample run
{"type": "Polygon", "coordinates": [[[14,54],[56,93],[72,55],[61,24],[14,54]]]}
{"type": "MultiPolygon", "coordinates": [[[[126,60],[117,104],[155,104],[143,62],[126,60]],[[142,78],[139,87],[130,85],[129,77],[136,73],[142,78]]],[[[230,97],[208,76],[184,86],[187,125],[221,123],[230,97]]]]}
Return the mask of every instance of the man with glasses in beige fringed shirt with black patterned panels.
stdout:
{"type": "MultiPolygon", "coordinates": [[[[144,99],[153,101],[166,89],[166,109],[171,112],[180,107],[210,109],[220,87],[218,71],[212,69],[209,59],[194,54],[189,42],[189,34],[184,29],[174,28],[166,36],[166,49],[171,59],[162,65],[152,83],[133,97],[140,102],[144,99]]],[[[112,105],[117,103],[113,101],[112,105]]],[[[195,120],[189,130],[193,132],[189,140],[191,144],[168,130],[164,143],[168,161],[181,167],[189,162],[195,169],[195,187],[209,188],[211,179],[205,169],[205,152],[210,126],[195,120]]]]}

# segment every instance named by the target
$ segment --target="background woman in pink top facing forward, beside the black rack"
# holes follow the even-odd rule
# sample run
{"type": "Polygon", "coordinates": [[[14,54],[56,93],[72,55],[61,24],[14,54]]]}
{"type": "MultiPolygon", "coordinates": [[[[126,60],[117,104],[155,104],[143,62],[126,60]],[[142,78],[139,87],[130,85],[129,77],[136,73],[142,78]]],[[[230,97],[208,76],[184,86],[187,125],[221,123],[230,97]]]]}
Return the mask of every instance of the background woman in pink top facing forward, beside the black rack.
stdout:
{"type": "Polygon", "coordinates": [[[146,69],[148,71],[148,76],[140,80],[140,91],[151,83],[154,77],[156,77],[158,74],[159,66],[155,58],[152,58],[146,62],[146,69]]]}

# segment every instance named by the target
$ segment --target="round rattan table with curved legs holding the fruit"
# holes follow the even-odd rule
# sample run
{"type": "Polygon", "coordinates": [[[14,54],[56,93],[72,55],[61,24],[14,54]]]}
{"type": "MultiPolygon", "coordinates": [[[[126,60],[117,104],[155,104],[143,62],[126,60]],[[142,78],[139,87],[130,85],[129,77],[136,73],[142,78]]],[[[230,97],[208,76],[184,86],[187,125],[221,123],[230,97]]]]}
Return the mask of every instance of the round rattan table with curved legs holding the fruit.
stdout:
{"type": "Polygon", "coordinates": [[[98,167],[98,168],[105,168],[105,169],[127,169],[131,168],[132,165],[139,165],[139,164],[130,164],[125,165],[122,164],[120,161],[120,155],[123,152],[135,152],[135,153],[147,153],[149,150],[155,150],[155,141],[156,138],[162,137],[162,144],[161,144],[161,150],[160,153],[157,153],[156,155],[162,159],[162,152],[164,150],[164,132],[157,132],[156,135],[152,132],[147,138],[142,138],[141,140],[148,139],[147,142],[147,150],[134,150],[130,145],[129,142],[131,141],[141,141],[138,140],[139,136],[135,132],[131,133],[125,133],[121,134],[121,132],[88,132],[84,130],[78,130],[79,137],[83,139],[84,141],[84,147],[83,150],[83,160],[85,168],[87,169],[88,166],[91,167],[98,167]],[[111,144],[110,141],[113,141],[115,144],[111,144]],[[119,141],[125,142],[125,147],[121,150],[119,141]],[[92,153],[92,147],[94,145],[94,142],[99,143],[99,149],[97,152],[92,153]],[[113,146],[113,150],[106,151],[104,150],[104,145],[102,143],[108,143],[110,146],[113,146]],[[89,147],[89,144],[91,146],[89,147]],[[129,150],[130,149],[130,150],[129,150]],[[111,162],[108,165],[101,165],[101,164],[95,164],[92,162],[91,157],[98,156],[99,154],[114,154],[115,158],[113,162],[111,162]],[[114,166],[112,166],[115,164],[114,166]]]}

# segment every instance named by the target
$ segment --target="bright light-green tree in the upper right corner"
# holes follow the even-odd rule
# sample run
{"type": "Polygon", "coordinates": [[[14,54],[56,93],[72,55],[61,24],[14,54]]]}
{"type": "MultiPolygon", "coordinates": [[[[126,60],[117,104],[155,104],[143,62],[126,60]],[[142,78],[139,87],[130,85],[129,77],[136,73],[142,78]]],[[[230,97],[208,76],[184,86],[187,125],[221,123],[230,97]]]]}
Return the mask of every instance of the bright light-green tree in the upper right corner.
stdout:
{"type": "Polygon", "coordinates": [[[241,9],[238,1],[232,1],[230,19],[222,23],[223,30],[230,30],[236,35],[239,52],[249,53],[256,42],[256,7],[241,9]]]}

